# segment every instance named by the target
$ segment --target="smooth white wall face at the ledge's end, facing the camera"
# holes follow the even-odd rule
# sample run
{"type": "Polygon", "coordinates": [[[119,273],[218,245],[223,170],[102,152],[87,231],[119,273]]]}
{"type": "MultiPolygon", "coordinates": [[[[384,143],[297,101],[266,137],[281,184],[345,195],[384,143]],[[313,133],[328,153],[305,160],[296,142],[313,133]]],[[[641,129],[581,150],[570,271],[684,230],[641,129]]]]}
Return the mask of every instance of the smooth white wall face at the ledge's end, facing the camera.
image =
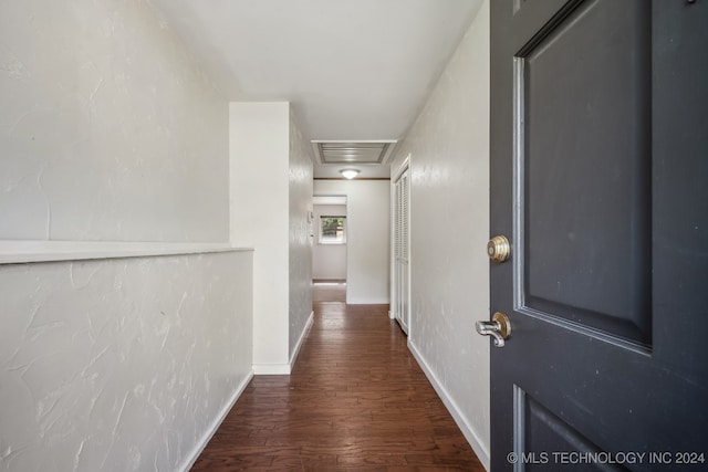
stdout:
{"type": "Polygon", "coordinates": [[[256,374],[289,373],[290,105],[230,104],[231,242],[254,248],[256,374]]]}

